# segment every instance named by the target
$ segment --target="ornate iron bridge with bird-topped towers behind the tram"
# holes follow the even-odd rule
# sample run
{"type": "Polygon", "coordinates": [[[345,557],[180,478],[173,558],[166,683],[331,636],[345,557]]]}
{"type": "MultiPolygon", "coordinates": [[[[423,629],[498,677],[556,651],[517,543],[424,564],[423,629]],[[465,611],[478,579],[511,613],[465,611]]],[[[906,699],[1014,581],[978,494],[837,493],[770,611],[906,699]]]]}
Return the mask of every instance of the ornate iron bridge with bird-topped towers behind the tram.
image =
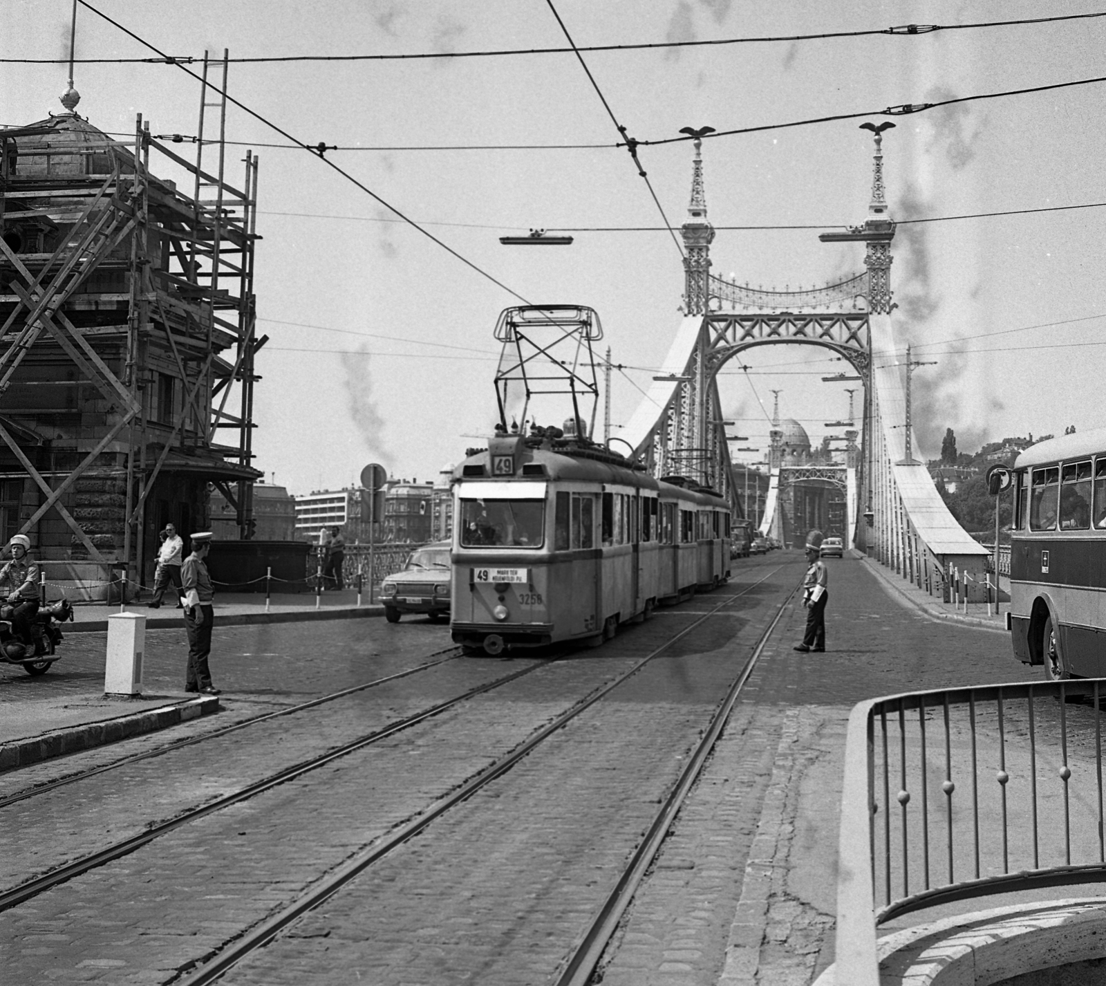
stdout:
{"type": "Polygon", "coordinates": [[[761,532],[784,542],[801,538],[804,525],[826,523],[835,496],[848,547],[946,599],[953,572],[982,594],[988,551],[956,521],[914,454],[909,356],[904,360],[896,336],[891,290],[895,221],[884,186],[883,134],[875,132],[874,139],[864,221],[820,236],[824,242],[864,243],[864,271],[797,291],[754,289],[710,272],[714,228],[707,216],[702,142],[695,141],[688,218],[680,228],[684,318],[653,386],[614,437],[654,475],[689,477],[727,496],[743,516],[723,429],[719,371],[759,346],[830,350],[848,363],[863,387],[862,428],[858,435],[848,433],[849,448],[842,454],[820,457],[808,447],[800,454],[794,436],[785,440],[776,408],[761,532]],[[797,515],[796,497],[803,504],[797,515]]]}

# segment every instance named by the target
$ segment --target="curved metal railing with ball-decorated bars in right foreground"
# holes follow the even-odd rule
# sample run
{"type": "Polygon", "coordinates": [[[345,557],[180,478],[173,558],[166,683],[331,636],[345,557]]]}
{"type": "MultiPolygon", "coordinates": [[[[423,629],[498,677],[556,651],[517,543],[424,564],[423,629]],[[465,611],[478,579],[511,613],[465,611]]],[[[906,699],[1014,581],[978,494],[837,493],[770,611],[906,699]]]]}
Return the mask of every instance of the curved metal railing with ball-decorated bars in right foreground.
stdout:
{"type": "Polygon", "coordinates": [[[878,986],[876,928],[925,907],[1106,880],[1106,678],[914,692],[848,720],[837,983],[878,986]]]}

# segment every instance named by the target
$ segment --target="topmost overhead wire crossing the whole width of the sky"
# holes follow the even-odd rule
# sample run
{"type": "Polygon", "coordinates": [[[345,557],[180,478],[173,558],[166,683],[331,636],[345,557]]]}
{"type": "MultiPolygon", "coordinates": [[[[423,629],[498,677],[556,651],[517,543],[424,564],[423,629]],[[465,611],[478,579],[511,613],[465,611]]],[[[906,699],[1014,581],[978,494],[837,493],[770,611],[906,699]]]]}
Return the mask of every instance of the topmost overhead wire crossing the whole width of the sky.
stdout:
{"type": "MultiPolygon", "coordinates": [[[[1070,13],[1056,17],[1022,18],[1009,21],[975,21],[967,24],[901,24],[894,28],[869,28],[862,31],[823,31],[817,34],[774,34],[760,38],[709,38],[702,41],[653,41],[638,44],[592,44],[573,48],[513,48],[487,51],[434,51],[411,54],[354,54],[354,55],[260,55],[254,58],[229,59],[233,64],[255,64],[264,62],[389,62],[415,61],[419,59],[473,59],[502,58],[504,55],[570,54],[574,51],[649,51],[653,49],[709,48],[729,44],[764,44],[794,41],[826,41],[835,38],[870,38],[891,34],[899,38],[931,34],[936,31],[966,31],[974,28],[1006,28],[1026,24],[1045,24],[1056,21],[1076,21],[1106,17],[1106,13],[1070,13]]],[[[0,59],[0,63],[54,65],[69,62],[77,65],[100,64],[191,64],[201,61],[195,55],[161,55],[157,59],[0,59]]]]}

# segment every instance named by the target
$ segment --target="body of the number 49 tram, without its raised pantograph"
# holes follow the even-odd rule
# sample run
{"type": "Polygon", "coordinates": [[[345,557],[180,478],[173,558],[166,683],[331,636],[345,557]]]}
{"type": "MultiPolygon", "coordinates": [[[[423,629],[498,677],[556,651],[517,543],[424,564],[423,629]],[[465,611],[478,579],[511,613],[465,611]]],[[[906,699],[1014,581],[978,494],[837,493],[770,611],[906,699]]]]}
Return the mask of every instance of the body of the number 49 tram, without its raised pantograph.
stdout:
{"type": "Polygon", "coordinates": [[[453,473],[450,629],[469,653],[597,645],[730,575],[721,496],[655,479],[566,425],[497,426],[453,473]]]}

